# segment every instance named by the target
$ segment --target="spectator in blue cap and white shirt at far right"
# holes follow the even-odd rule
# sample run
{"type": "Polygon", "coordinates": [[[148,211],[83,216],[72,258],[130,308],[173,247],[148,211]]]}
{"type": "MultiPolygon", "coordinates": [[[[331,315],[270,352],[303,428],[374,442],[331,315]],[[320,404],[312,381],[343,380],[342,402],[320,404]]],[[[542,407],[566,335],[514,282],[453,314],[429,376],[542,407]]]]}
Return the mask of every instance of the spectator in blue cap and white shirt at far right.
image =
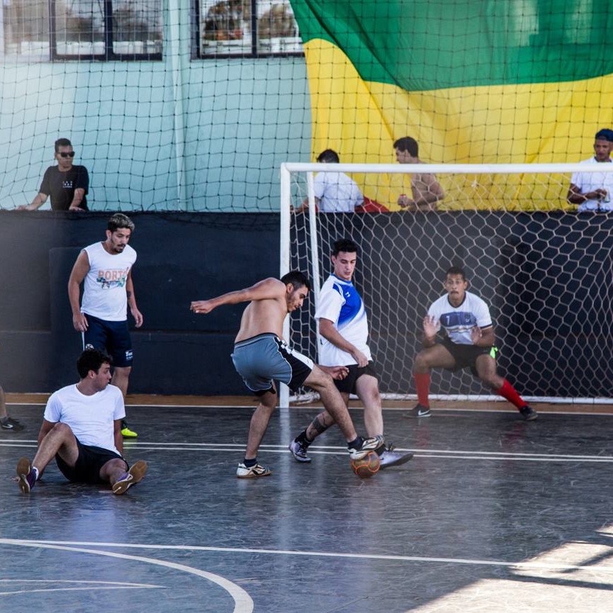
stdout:
{"type": "MultiPolygon", "coordinates": [[[[603,128],[596,133],[594,155],[581,164],[610,164],[613,150],[613,130],[603,128]]],[[[609,172],[573,172],[566,199],[578,204],[579,213],[590,210],[594,213],[613,210],[613,174],[609,172]]]]}

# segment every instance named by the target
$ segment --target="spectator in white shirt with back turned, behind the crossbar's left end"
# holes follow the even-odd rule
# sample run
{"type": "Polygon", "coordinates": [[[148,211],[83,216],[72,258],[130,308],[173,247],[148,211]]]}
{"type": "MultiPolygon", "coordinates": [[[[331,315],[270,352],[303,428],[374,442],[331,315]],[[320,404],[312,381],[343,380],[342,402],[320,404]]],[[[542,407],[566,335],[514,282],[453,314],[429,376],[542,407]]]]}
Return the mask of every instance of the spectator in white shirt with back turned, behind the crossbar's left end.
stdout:
{"type": "MultiPolygon", "coordinates": [[[[317,157],[320,164],[338,164],[339,156],[332,149],[322,151],[317,157]]],[[[321,213],[355,213],[364,203],[364,196],[356,182],[342,172],[318,172],[313,181],[315,204],[321,213]]],[[[308,197],[296,209],[303,213],[308,209],[308,197]]]]}

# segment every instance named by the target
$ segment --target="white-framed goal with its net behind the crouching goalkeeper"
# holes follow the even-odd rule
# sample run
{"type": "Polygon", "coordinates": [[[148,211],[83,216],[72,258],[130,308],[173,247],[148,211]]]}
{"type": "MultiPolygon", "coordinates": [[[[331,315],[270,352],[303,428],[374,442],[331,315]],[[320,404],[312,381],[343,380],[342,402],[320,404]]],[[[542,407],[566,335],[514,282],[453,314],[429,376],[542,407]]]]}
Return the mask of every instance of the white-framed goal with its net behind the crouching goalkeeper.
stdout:
{"type": "MultiPolygon", "coordinates": [[[[613,213],[578,213],[567,195],[573,172],[608,166],[283,164],[281,272],[300,269],[314,284],[303,313],[288,317],[288,339],[317,359],[318,290],[332,271],[334,240],[348,237],[360,248],[354,284],[386,398],[415,398],[423,317],[444,294],[446,269],[461,266],[468,291],[490,305],[499,372],[524,398],[606,402],[613,379],[613,213]],[[351,176],[366,196],[361,212],[318,210],[313,176],[320,172],[351,176]],[[411,173],[434,174],[444,193],[434,199],[437,210],[400,209],[402,194],[415,196],[411,173]],[[304,201],[309,206],[301,211],[304,201]]],[[[431,392],[493,399],[468,370],[433,371],[431,392]]]]}

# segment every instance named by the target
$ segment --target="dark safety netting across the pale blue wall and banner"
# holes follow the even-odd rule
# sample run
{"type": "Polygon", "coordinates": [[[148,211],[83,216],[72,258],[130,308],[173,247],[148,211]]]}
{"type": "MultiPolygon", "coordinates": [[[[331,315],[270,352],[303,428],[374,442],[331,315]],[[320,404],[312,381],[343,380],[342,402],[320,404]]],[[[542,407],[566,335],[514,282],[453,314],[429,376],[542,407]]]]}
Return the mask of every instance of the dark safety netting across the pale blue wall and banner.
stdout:
{"type": "MultiPolygon", "coordinates": [[[[2,0],[0,208],[33,200],[59,137],[89,170],[94,210],[276,211],[282,162],[332,148],[393,163],[407,135],[437,164],[590,156],[613,125],[608,1],[438,8],[2,0]]],[[[393,209],[396,187],[364,193],[393,209]]],[[[496,187],[510,208],[518,186],[496,187]]],[[[479,184],[471,198],[497,195],[479,184]]]]}

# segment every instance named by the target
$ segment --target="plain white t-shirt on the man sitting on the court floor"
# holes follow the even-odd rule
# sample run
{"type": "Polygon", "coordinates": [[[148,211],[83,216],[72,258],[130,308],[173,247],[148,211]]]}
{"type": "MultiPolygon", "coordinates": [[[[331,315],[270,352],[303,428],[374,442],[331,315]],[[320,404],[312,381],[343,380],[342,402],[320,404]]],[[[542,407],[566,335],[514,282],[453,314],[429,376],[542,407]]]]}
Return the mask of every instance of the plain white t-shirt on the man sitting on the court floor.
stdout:
{"type": "Polygon", "coordinates": [[[47,422],[67,424],[82,444],[110,449],[116,454],[119,451],[115,446],[113,422],[124,417],[121,390],[111,385],[86,396],[75,383],[53,393],[45,407],[47,422]]]}

